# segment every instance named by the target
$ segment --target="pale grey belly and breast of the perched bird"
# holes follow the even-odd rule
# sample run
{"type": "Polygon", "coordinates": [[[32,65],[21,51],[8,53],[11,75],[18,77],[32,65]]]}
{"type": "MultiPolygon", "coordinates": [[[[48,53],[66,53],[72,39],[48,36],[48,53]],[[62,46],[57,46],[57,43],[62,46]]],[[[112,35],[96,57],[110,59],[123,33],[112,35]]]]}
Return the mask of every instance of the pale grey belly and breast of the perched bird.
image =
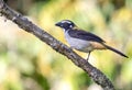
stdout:
{"type": "Polygon", "coordinates": [[[91,44],[88,41],[73,38],[73,37],[66,37],[67,42],[69,43],[72,48],[75,48],[80,52],[89,53],[94,49],[91,44]]]}

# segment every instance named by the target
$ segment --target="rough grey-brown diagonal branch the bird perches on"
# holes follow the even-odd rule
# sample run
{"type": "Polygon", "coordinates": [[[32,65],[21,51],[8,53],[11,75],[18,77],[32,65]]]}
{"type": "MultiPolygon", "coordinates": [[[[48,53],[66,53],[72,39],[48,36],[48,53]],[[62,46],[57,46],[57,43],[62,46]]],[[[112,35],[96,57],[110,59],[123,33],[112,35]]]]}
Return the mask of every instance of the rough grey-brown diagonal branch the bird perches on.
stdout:
{"type": "Polygon", "coordinates": [[[22,14],[9,8],[3,0],[0,0],[0,13],[7,19],[11,20],[19,27],[23,29],[25,32],[34,34],[42,42],[50,45],[54,50],[61,53],[62,55],[69,58],[76,66],[84,69],[89,77],[98,85],[100,85],[105,90],[114,90],[112,82],[96,67],[91,66],[87,60],[81,58],[69,47],[54,38],[44,30],[40,29],[22,14]]]}

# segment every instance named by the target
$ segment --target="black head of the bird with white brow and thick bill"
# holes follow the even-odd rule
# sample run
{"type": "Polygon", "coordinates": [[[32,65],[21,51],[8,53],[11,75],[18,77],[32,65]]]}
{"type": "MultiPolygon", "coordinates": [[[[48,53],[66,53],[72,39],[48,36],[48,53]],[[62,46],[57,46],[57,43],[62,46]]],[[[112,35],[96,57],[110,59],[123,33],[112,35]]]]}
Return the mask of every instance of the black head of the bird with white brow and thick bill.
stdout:
{"type": "Polygon", "coordinates": [[[64,30],[73,29],[74,26],[76,26],[76,25],[74,24],[74,22],[72,22],[72,21],[69,21],[69,20],[63,20],[63,21],[61,21],[61,22],[57,22],[55,25],[56,25],[56,26],[59,26],[59,27],[62,27],[62,29],[64,29],[64,30]]]}

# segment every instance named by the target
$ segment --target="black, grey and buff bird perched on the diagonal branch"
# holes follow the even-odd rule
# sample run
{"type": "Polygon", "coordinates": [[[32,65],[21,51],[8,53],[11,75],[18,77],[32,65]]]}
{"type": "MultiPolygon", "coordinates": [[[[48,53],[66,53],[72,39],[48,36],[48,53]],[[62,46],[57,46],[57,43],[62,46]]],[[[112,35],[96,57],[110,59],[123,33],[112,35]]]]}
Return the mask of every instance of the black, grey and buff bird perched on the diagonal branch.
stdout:
{"type": "Polygon", "coordinates": [[[65,38],[70,48],[88,53],[87,60],[89,59],[90,53],[95,49],[110,49],[123,57],[129,58],[120,50],[107,45],[106,42],[98,35],[79,29],[70,20],[62,20],[61,22],[55,23],[55,25],[64,30],[65,38]]]}

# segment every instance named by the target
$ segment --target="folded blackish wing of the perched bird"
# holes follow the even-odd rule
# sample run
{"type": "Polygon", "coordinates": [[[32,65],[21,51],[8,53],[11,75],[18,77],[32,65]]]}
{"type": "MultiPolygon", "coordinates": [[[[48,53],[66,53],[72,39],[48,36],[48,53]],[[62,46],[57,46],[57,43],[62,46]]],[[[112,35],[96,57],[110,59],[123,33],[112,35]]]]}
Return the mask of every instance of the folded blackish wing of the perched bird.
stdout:
{"type": "Polygon", "coordinates": [[[102,38],[100,38],[99,36],[95,35],[92,33],[82,31],[82,30],[77,30],[77,29],[73,30],[73,31],[69,30],[68,33],[72,37],[81,38],[85,41],[105,43],[105,41],[102,38]]]}

